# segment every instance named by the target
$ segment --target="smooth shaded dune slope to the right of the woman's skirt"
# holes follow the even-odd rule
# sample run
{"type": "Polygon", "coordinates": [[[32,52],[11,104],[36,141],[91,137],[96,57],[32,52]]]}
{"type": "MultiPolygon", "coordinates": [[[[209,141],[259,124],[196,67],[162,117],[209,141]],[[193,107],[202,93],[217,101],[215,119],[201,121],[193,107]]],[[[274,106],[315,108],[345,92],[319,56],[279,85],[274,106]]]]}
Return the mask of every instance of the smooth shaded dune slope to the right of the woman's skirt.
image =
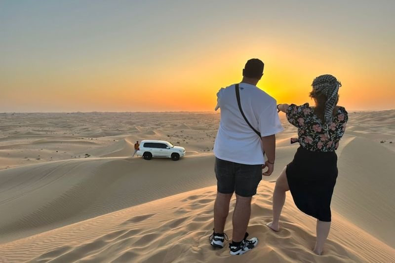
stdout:
{"type": "Polygon", "coordinates": [[[339,155],[332,207],[395,248],[394,152],[355,138],[339,155]]]}

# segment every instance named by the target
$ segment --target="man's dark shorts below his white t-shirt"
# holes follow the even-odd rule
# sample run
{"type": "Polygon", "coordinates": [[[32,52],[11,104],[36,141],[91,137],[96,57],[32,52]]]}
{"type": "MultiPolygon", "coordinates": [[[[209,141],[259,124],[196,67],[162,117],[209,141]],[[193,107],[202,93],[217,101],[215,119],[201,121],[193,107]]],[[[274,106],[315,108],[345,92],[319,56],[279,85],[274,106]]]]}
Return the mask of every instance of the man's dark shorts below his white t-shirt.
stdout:
{"type": "Polygon", "coordinates": [[[251,197],[256,194],[262,180],[262,164],[241,164],[216,157],[214,171],[220,193],[236,192],[237,195],[251,197]]]}

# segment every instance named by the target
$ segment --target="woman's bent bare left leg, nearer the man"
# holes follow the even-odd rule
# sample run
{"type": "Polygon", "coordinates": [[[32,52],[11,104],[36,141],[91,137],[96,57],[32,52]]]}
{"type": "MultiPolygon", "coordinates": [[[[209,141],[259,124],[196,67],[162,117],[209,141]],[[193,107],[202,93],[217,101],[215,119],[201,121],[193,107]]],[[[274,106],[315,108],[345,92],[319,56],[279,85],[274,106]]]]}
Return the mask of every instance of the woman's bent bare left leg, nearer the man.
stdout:
{"type": "Polygon", "coordinates": [[[275,191],[273,193],[273,221],[267,224],[267,226],[274,231],[279,230],[278,221],[280,220],[281,210],[285,202],[285,192],[288,190],[289,186],[285,167],[277,178],[275,191]]]}

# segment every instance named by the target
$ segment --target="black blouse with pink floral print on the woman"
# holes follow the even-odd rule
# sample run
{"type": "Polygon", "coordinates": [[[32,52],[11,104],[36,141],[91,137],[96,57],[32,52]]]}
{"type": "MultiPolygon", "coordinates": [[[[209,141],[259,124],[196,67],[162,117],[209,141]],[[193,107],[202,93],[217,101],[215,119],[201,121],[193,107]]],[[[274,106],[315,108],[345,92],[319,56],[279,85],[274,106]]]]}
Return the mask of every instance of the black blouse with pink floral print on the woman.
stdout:
{"type": "Polygon", "coordinates": [[[348,113],[343,107],[337,109],[330,125],[322,123],[308,103],[301,106],[291,104],[286,113],[288,121],[298,128],[298,139],[291,143],[313,151],[334,151],[339,147],[348,121],[348,113]]]}

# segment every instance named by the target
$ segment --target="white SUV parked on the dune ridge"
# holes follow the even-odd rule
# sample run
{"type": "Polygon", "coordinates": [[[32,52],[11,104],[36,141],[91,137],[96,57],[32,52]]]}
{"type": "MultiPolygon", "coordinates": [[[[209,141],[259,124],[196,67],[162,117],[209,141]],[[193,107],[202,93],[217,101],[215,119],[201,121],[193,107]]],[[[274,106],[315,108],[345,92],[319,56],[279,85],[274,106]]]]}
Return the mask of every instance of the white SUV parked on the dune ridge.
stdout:
{"type": "Polygon", "coordinates": [[[141,141],[140,149],[137,151],[137,156],[143,156],[146,160],[151,160],[152,157],[166,157],[177,161],[180,157],[185,156],[185,148],[174,146],[166,141],[141,141]]]}

